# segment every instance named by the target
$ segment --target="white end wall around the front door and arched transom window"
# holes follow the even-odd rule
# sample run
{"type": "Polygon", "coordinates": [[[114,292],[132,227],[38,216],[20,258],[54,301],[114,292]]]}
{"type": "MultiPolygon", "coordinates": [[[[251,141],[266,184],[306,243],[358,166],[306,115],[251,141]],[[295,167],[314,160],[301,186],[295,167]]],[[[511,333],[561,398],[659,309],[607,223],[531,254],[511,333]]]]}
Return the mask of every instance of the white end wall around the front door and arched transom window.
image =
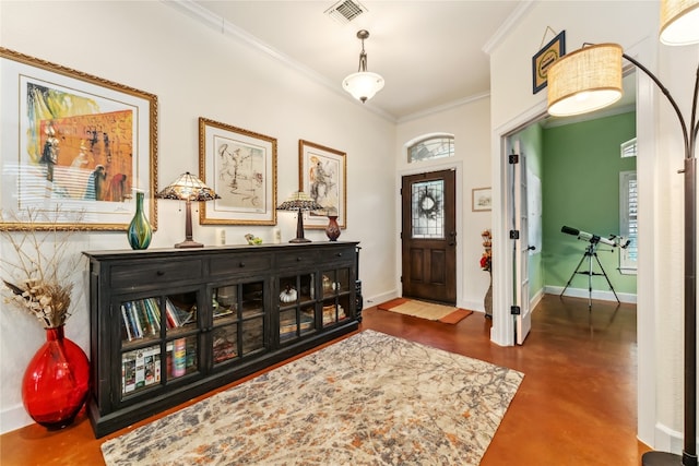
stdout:
{"type": "MultiPolygon", "coordinates": [[[[457,306],[483,311],[483,299],[489,275],[479,266],[483,253],[481,232],[490,228],[490,212],[472,212],[473,188],[490,186],[490,99],[469,99],[438,112],[399,122],[395,138],[396,183],[401,177],[447,167],[457,169],[457,306]],[[429,133],[454,135],[454,156],[449,159],[420,160],[408,164],[406,144],[429,133]]],[[[400,196],[395,196],[396,223],[400,230],[400,196]]],[[[401,244],[396,242],[396,277],[401,275],[401,244]]],[[[400,283],[396,285],[400,288],[400,283]]]]}

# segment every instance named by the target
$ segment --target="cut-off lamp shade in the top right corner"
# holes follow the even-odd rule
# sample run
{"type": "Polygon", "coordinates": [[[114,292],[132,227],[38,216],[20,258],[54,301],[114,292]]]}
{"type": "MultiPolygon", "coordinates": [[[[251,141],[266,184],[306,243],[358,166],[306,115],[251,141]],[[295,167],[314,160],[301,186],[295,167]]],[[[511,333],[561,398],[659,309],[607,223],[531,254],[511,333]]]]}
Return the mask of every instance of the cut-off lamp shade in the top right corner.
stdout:
{"type": "Polygon", "coordinates": [[[660,41],[668,46],[699,43],[699,0],[663,0],[660,41]]]}

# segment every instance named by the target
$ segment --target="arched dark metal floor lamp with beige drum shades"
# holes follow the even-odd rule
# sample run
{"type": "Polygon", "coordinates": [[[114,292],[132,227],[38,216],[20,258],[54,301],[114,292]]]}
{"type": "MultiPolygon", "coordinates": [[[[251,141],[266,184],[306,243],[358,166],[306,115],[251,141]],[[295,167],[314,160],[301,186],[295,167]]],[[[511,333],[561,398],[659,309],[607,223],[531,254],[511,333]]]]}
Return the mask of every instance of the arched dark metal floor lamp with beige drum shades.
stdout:
{"type": "MultiPolygon", "coordinates": [[[[661,36],[666,45],[699,43],[699,0],[663,0],[661,36]]],[[[684,344],[684,449],[683,454],[649,452],[643,466],[697,466],[697,98],[699,67],[695,81],[689,126],[667,88],[645,67],[624,53],[616,44],[583,46],[557,60],[547,72],[548,112],[553,116],[580,115],[603,108],[621,97],[621,58],[648,74],[672,105],[684,136],[685,198],[685,344],[684,344]]]]}

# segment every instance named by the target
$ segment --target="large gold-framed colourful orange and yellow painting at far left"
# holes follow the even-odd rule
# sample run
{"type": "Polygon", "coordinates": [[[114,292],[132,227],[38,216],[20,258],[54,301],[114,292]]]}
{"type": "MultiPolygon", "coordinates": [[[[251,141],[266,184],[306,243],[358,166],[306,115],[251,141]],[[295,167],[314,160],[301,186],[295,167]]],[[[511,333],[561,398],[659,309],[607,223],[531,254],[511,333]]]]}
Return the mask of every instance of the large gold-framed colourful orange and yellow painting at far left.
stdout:
{"type": "Polygon", "coordinates": [[[137,190],[157,228],[155,95],[1,47],[0,82],[0,229],[126,230],[137,190]]]}

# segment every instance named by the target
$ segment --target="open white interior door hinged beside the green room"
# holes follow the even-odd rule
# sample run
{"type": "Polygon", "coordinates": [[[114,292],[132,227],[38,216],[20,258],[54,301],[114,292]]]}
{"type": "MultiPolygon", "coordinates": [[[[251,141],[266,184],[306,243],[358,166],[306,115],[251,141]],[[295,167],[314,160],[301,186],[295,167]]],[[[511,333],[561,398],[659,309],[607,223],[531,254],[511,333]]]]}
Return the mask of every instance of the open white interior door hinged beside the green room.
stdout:
{"type": "Polygon", "coordinates": [[[514,314],[514,342],[522,345],[532,328],[532,312],[529,299],[529,203],[526,183],[526,156],[522,153],[520,141],[510,142],[510,153],[517,157],[511,159],[511,187],[513,207],[511,230],[517,231],[519,239],[512,239],[513,264],[513,306],[519,308],[514,314]]]}

